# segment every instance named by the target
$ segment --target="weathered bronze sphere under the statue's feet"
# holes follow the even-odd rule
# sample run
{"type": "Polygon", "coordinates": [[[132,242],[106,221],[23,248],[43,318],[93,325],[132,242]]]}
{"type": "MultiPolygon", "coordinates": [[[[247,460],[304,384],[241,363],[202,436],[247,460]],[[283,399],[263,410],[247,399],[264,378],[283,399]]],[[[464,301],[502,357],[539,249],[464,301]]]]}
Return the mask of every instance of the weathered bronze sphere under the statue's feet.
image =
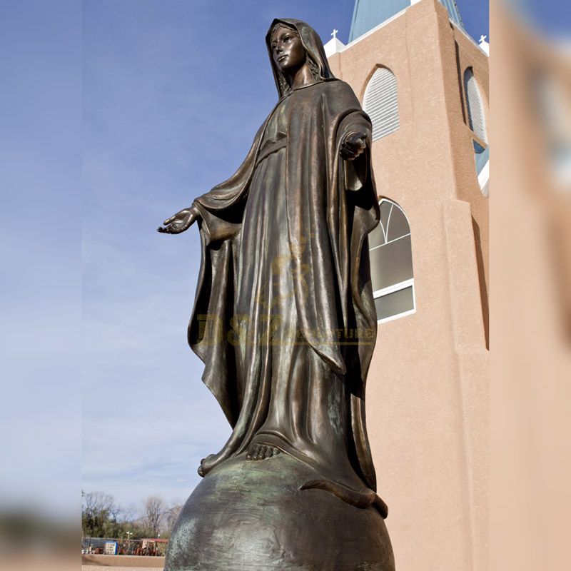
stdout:
{"type": "Polygon", "coordinates": [[[299,490],[313,477],[284,453],[227,460],[188,498],[165,571],[394,571],[378,510],[299,490]]]}

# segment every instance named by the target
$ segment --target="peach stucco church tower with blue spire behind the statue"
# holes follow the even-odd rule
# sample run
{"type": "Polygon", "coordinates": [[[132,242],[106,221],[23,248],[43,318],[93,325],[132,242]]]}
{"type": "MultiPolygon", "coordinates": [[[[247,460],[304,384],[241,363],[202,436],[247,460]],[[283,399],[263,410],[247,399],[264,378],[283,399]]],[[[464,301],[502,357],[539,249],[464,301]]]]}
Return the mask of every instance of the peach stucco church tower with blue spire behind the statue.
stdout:
{"type": "Polygon", "coordinates": [[[367,423],[398,571],[487,568],[489,45],[453,0],[356,0],[325,46],[373,121],[367,423]]]}

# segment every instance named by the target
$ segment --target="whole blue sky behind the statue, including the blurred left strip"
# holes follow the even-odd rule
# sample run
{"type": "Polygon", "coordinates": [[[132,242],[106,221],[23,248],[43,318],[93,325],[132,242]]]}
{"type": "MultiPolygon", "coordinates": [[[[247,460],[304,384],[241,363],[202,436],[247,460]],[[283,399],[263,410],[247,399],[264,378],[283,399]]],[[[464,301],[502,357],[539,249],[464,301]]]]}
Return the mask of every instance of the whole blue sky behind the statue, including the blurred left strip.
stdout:
{"type": "MultiPolygon", "coordinates": [[[[457,1],[487,34],[487,4],[457,1]]],[[[198,231],[156,227],[233,173],[275,103],[271,20],[345,42],[352,13],[353,0],[9,3],[0,416],[19,438],[0,501],[73,509],[81,448],[85,490],[135,512],[156,492],[186,499],[229,428],[186,345],[198,231]]]]}

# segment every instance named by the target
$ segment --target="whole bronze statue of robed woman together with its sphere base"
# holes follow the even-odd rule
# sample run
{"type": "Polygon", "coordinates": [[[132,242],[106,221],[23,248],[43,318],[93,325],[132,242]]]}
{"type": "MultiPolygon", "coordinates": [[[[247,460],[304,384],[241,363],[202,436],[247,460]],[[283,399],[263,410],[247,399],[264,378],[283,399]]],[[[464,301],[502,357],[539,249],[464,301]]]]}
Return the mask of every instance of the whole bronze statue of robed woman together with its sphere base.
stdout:
{"type": "Polygon", "coordinates": [[[389,571],[365,430],[370,120],[308,24],[276,19],[266,44],[279,99],[248,156],[158,228],[200,226],[188,342],[233,429],[201,462],[165,569],[389,571]]]}

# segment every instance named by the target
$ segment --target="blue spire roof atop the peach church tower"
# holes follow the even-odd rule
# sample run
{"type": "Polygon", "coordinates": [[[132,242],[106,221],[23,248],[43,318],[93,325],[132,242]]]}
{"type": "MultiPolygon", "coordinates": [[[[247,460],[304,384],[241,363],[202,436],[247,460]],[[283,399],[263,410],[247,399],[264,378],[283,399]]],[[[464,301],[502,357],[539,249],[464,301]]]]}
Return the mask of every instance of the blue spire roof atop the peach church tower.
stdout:
{"type": "MultiPolygon", "coordinates": [[[[450,19],[458,26],[464,28],[460,11],[455,0],[439,0],[440,4],[448,9],[450,19]]],[[[353,9],[353,21],[349,32],[349,41],[363,36],[375,26],[378,26],[391,16],[413,4],[413,0],[355,0],[353,9]]]]}

